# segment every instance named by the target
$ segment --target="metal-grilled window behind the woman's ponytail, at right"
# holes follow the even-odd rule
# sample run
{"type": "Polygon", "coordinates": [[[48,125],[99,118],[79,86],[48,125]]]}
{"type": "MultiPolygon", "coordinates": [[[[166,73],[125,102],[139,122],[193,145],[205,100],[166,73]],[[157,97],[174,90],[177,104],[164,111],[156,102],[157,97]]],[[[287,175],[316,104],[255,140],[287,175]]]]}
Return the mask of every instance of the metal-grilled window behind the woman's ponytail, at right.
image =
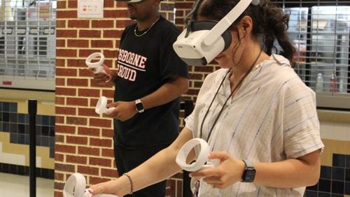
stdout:
{"type": "Polygon", "coordinates": [[[318,108],[350,109],[350,1],[274,3],[290,13],[295,72],[316,92],[318,108]]]}

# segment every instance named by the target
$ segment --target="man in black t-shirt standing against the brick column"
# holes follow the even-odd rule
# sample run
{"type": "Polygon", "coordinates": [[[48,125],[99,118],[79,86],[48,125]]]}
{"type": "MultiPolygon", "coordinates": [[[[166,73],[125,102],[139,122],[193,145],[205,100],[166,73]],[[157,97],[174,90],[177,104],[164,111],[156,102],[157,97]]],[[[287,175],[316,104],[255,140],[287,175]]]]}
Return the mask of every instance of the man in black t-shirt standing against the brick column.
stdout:
{"type": "MultiPolygon", "coordinates": [[[[172,48],[181,32],[160,16],[160,1],[125,1],[136,23],[126,27],[120,38],[117,69],[94,75],[98,83],[110,80],[116,87],[114,103],[108,105],[116,109],[107,116],[114,118],[120,176],[179,135],[179,96],[188,90],[188,70],[172,48]]],[[[135,177],[128,178],[132,182],[135,177]]],[[[165,196],[165,186],[165,181],[160,182],[132,196],[165,196]]]]}

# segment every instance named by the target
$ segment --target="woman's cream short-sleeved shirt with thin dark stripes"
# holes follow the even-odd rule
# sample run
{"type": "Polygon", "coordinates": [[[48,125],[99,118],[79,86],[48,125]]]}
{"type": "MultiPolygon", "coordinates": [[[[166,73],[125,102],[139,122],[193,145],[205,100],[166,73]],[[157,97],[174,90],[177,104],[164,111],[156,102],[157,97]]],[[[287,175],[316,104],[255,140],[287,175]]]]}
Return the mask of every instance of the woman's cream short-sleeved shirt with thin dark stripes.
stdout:
{"type": "MultiPolygon", "coordinates": [[[[315,94],[289,65],[287,59],[276,54],[258,64],[226,103],[208,140],[209,130],[230,95],[227,76],[215,97],[228,69],[211,73],[200,89],[195,110],[186,118],[186,127],[193,131],[194,138],[207,140],[211,150],[226,151],[236,159],[275,162],[322,149],[315,94]]],[[[211,162],[218,165],[218,159],[211,162]]],[[[199,196],[303,196],[304,190],[242,182],[213,189],[201,182],[199,196]]]]}

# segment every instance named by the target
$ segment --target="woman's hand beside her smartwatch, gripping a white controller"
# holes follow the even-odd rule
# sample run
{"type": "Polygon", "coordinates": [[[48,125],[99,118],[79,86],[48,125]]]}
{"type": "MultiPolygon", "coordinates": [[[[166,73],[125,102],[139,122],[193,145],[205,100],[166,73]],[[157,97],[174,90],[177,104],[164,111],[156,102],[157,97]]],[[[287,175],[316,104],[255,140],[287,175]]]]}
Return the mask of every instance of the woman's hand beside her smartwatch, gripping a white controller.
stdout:
{"type": "Polygon", "coordinates": [[[245,166],[243,161],[232,158],[227,152],[211,152],[208,158],[220,159],[220,164],[190,173],[190,177],[203,177],[204,182],[220,189],[241,181],[245,166]]]}

